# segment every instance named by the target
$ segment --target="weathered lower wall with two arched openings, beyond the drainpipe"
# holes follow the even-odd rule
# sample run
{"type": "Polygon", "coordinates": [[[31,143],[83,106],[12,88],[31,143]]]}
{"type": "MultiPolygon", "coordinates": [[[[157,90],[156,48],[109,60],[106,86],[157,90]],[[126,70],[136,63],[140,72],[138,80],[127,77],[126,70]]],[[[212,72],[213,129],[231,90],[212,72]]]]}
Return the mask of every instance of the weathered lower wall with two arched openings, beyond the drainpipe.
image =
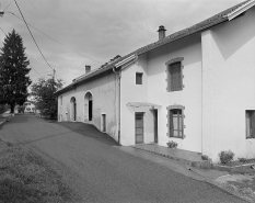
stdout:
{"type": "MultiPolygon", "coordinates": [[[[102,113],[106,114],[106,133],[117,140],[117,81],[115,74],[104,74],[93,80],[77,86],[69,91],[58,95],[58,120],[70,120],[70,100],[72,97],[77,101],[77,122],[86,122],[84,106],[84,95],[91,92],[93,97],[93,119],[92,124],[102,131],[102,113]],[[62,105],[61,105],[62,97],[62,105]]],[[[88,112],[86,112],[88,114],[88,112]]]]}

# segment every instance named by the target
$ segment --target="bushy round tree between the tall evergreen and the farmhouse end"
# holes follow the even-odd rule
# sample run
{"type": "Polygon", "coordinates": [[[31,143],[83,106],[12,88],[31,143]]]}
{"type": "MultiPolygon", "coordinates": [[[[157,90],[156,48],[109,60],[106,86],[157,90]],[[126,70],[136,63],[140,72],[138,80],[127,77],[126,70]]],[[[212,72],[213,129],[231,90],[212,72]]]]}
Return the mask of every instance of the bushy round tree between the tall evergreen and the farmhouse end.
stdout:
{"type": "Polygon", "coordinates": [[[58,101],[54,93],[61,89],[62,84],[61,79],[55,81],[53,76],[39,78],[36,83],[32,84],[35,106],[40,111],[42,115],[50,119],[57,117],[58,101]]]}

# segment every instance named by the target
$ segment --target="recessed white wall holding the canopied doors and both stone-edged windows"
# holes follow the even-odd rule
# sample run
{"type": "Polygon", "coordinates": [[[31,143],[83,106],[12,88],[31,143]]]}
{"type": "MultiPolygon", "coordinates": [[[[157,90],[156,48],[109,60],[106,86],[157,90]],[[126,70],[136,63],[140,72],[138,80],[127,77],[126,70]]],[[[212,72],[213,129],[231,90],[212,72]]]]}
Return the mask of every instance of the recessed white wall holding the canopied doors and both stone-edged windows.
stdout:
{"type": "MultiPolygon", "coordinates": [[[[171,43],[148,54],[140,55],[135,65],[121,74],[121,144],[135,144],[135,111],[128,102],[150,102],[158,110],[159,144],[166,146],[169,140],[178,143],[178,148],[201,151],[201,44],[200,35],[171,43]],[[175,57],[184,57],[183,75],[185,88],[177,92],[166,91],[165,63],[175,57]],[[143,84],[135,83],[135,74],[143,72],[143,84]],[[167,133],[166,106],[184,105],[186,138],[170,138],[167,133]]],[[[144,110],[144,143],[154,140],[153,114],[144,110]],[[147,116],[146,116],[147,115],[147,116]]]]}

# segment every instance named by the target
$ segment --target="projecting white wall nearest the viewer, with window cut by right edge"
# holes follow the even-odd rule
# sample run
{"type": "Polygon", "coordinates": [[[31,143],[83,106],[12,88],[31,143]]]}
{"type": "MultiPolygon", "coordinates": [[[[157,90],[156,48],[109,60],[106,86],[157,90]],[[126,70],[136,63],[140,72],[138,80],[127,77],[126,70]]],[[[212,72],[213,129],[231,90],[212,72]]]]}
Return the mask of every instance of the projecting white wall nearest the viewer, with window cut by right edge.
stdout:
{"type": "Polygon", "coordinates": [[[219,161],[221,150],[235,159],[254,158],[246,139],[245,110],[255,110],[255,9],[201,34],[202,154],[219,161]]]}

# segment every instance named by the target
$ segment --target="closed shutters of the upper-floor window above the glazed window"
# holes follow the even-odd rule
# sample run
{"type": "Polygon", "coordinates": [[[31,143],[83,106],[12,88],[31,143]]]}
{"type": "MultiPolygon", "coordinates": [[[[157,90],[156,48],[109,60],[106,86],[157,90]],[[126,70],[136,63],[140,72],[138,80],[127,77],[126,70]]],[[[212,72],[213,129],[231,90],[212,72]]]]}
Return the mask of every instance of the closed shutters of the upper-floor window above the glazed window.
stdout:
{"type": "Polygon", "coordinates": [[[183,89],[181,61],[169,65],[169,90],[178,91],[183,89]]]}

